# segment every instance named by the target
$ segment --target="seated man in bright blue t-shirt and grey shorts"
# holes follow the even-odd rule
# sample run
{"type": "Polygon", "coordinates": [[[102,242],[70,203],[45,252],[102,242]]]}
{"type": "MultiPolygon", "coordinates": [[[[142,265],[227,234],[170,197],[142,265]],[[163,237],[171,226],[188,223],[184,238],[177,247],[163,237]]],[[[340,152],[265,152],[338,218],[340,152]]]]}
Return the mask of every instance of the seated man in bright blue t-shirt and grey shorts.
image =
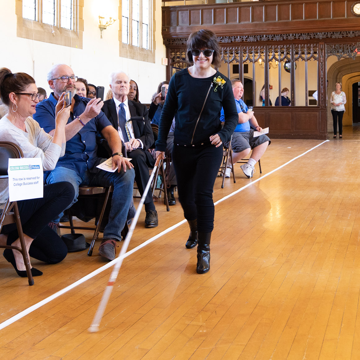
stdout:
{"type": "MultiPolygon", "coordinates": [[[[240,80],[231,80],[233,93],[235,97],[236,108],[239,114],[238,125],[235,127],[233,138],[231,140],[231,149],[233,150],[234,164],[239,160],[245,158],[252,150],[249,161],[241,165],[241,170],[250,178],[253,176],[255,164],[260,160],[261,156],[265,153],[267,146],[271,143],[266,135],[256,136],[255,131],[261,131],[262,128],[256,121],[253,111],[249,111],[247,105],[241,99],[244,94],[244,86],[240,80]]],[[[224,110],[221,109],[220,120],[224,121],[224,110]]],[[[228,144],[225,144],[226,146],[228,144]]],[[[225,171],[225,177],[230,177],[231,165],[225,171]]]]}

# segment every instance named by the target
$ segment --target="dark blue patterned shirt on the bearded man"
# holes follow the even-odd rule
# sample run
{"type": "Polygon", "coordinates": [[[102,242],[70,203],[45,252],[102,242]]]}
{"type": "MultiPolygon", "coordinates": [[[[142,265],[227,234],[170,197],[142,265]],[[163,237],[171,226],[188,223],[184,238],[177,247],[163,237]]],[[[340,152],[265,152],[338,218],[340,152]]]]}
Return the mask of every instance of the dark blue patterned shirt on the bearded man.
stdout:
{"type": "MultiPolygon", "coordinates": [[[[70,114],[67,123],[72,122],[77,116],[80,116],[86,108],[86,104],[90,99],[82,98],[78,95],[74,96],[75,105],[74,113],[70,114]]],[[[50,132],[55,129],[55,106],[57,100],[54,93],[51,93],[48,99],[36,105],[36,113],[33,119],[46,131],[50,132]]],[[[78,120],[76,120],[78,121],[78,120]]],[[[96,144],[96,136],[104,127],[112,126],[105,114],[100,114],[91,119],[82,129],[80,129],[71,139],[66,141],[65,155],[59,158],[56,167],[62,166],[74,170],[83,180],[86,170],[99,165],[101,160],[96,156],[98,148],[96,144]]]]}

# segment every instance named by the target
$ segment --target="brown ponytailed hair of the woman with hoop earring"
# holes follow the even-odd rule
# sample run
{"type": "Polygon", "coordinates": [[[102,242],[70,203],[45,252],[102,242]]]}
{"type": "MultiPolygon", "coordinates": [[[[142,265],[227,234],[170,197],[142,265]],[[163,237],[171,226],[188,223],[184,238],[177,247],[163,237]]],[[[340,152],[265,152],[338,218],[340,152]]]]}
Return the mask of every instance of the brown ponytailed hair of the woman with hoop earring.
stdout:
{"type": "Polygon", "coordinates": [[[35,84],[32,76],[24,72],[13,74],[8,68],[0,69],[0,96],[5,105],[10,104],[10,93],[21,93],[30,84],[35,84]]]}

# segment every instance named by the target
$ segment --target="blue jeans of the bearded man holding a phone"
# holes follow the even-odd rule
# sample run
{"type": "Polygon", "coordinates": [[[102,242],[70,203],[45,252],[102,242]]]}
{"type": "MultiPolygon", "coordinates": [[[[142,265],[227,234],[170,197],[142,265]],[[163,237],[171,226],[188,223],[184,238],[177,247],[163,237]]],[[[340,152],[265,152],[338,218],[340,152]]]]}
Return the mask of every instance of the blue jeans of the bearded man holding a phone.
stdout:
{"type": "MultiPolygon", "coordinates": [[[[52,171],[44,172],[46,184],[58,183],[59,181],[68,181],[75,189],[75,197],[71,207],[77,201],[79,186],[114,186],[111,201],[111,210],[109,222],[105,226],[103,239],[115,238],[121,240],[121,230],[125,226],[127,213],[132,201],[132,189],[134,188],[134,169],[127,169],[126,172],[121,169],[120,172],[108,172],[100,169],[94,169],[95,172],[87,171],[84,180],[73,170],[66,167],[56,167],[52,171]],[[66,179],[66,180],[64,180],[66,179]]],[[[59,222],[62,214],[54,222],[59,222]]]]}

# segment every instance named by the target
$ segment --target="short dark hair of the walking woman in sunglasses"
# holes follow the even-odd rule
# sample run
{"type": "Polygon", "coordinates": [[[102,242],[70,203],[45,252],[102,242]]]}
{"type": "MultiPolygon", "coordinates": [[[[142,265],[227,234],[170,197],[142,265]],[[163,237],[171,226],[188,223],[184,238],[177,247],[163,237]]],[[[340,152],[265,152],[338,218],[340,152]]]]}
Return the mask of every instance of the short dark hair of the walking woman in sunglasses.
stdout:
{"type": "Polygon", "coordinates": [[[214,50],[211,63],[216,67],[221,65],[221,49],[217,36],[213,31],[202,29],[192,32],[186,42],[186,46],[186,60],[188,62],[193,62],[191,49],[211,49],[214,50]]]}

